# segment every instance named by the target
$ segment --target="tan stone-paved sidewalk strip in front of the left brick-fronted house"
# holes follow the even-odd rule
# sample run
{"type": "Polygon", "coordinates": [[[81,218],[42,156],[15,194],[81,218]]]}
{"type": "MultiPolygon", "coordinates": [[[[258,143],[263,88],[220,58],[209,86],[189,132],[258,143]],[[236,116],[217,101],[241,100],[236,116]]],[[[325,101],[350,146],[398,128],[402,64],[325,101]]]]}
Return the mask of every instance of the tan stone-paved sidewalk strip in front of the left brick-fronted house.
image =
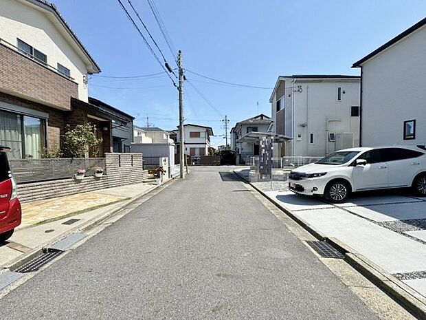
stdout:
{"type": "Polygon", "coordinates": [[[152,183],[128,184],[23,204],[21,226],[0,245],[0,268],[156,187],[152,183]]]}

